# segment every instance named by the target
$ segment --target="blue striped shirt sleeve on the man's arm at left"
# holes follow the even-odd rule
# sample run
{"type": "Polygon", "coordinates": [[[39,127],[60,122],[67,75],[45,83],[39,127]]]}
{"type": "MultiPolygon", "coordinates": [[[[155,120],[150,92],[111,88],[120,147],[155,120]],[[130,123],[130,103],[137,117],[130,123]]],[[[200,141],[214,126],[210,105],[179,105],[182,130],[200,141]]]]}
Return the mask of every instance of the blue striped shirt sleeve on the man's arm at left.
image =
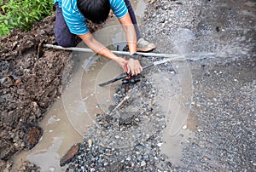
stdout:
{"type": "Polygon", "coordinates": [[[85,18],[82,14],[73,14],[73,12],[70,12],[70,10],[63,6],[62,14],[70,32],[76,35],[84,35],[89,32],[89,28],[86,25],[85,18]]]}

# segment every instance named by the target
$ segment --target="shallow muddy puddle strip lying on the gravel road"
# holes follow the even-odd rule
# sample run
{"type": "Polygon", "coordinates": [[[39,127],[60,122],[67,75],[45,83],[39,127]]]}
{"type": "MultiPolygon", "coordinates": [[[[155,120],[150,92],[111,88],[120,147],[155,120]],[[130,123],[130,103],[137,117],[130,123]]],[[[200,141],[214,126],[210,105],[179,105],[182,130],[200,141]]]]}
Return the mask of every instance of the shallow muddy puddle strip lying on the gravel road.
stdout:
{"type": "Polygon", "coordinates": [[[161,153],[165,162],[159,168],[166,170],[168,166],[181,164],[182,144],[193,137],[196,121],[191,120],[192,76],[185,60],[172,62],[172,76],[166,72],[153,73],[157,92],[156,104],[160,112],[166,116],[166,128],[163,129],[161,153]],[[168,163],[170,163],[168,165],[168,163]],[[171,165],[172,164],[172,165],[171,165]]]}

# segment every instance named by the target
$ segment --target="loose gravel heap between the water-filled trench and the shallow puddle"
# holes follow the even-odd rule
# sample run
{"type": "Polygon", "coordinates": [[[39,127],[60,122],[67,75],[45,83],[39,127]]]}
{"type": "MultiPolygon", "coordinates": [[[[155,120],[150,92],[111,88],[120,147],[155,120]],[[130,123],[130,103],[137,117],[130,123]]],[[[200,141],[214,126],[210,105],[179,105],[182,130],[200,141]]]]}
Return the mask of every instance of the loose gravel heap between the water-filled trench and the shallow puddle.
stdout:
{"type": "Polygon", "coordinates": [[[113,110],[96,115],[96,125],[85,136],[79,155],[67,171],[156,170],[165,117],[154,115],[154,88],[148,79],[141,80],[120,85],[113,110]]]}

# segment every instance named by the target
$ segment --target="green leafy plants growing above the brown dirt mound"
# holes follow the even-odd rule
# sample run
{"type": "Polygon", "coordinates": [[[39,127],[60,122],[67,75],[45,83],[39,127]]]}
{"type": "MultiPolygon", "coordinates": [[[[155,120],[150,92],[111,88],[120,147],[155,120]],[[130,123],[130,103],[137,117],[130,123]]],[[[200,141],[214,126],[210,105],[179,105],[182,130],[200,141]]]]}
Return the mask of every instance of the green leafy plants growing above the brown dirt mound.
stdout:
{"type": "Polygon", "coordinates": [[[29,31],[35,21],[42,20],[53,12],[52,0],[0,0],[0,37],[12,29],[29,31]]]}

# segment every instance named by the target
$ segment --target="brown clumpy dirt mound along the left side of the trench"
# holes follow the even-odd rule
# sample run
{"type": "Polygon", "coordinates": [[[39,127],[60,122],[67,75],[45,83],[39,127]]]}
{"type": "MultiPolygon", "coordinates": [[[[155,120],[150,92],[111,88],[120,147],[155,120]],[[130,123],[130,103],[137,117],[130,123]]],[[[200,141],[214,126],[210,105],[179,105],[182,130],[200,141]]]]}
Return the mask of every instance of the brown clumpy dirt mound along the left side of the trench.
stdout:
{"type": "MultiPolygon", "coordinates": [[[[61,95],[61,72],[71,66],[70,52],[44,49],[38,43],[55,43],[55,15],[36,23],[31,32],[15,30],[0,38],[0,158],[8,161],[15,152],[31,149],[42,129],[38,122],[61,95]]],[[[0,169],[6,164],[1,163],[0,169]]]]}

